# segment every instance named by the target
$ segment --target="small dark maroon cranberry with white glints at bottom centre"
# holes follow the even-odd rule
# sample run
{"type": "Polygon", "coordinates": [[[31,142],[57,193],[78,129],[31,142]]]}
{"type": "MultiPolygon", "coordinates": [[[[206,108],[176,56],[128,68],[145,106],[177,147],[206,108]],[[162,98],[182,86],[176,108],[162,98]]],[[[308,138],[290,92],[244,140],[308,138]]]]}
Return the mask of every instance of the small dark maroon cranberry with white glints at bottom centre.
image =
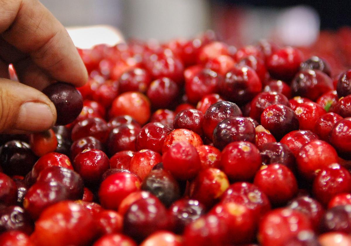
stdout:
{"type": "Polygon", "coordinates": [[[183,198],[174,202],[169,208],[174,232],[182,233],[186,225],[200,218],[205,211],[205,206],[197,200],[183,198]]]}

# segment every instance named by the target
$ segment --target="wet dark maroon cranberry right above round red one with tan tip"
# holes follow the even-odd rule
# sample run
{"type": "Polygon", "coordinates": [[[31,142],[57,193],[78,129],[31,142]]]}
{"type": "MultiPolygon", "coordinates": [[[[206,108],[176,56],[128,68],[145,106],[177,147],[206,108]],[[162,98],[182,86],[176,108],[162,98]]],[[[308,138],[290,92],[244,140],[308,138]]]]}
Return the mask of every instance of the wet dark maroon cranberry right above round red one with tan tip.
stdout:
{"type": "Polygon", "coordinates": [[[243,117],[224,119],[213,130],[213,145],[223,150],[224,147],[236,141],[255,142],[256,131],[254,125],[243,117]]]}

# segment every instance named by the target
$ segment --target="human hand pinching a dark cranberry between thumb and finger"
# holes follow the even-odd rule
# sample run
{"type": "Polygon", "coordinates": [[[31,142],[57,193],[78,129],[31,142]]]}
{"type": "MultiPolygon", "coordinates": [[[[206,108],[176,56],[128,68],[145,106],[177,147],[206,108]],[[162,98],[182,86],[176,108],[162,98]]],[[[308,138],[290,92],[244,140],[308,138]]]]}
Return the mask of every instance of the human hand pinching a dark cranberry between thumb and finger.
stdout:
{"type": "Polygon", "coordinates": [[[0,132],[43,131],[56,122],[41,92],[55,81],[82,86],[87,71],[60,22],[38,0],[0,0],[0,132]],[[12,63],[19,82],[9,80],[12,63]]]}

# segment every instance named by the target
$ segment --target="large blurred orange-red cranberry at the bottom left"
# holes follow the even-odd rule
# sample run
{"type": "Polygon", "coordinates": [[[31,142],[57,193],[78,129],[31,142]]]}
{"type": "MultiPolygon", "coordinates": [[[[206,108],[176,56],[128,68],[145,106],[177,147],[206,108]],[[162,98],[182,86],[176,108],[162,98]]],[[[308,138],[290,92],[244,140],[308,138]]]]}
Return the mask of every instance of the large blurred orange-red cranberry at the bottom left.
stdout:
{"type": "Polygon", "coordinates": [[[34,245],[88,245],[95,237],[92,215],[73,201],[56,203],[45,209],[31,235],[34,245]],[[54,229],[53,229],[54,228],[54,229]]]}

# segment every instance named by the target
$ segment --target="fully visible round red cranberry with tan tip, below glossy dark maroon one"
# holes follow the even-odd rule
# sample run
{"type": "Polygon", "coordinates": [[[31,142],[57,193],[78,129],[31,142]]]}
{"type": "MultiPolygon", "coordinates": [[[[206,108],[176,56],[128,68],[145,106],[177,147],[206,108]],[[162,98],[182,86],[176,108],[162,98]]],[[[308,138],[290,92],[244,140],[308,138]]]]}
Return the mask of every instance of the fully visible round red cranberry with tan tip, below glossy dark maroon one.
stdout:
{"type": "Polygon", "coordinates": [[[251,180],[261,163],[259,150],[250,142],[233,142],[222,151],[221,167],[231,180],[251,180]]]}

